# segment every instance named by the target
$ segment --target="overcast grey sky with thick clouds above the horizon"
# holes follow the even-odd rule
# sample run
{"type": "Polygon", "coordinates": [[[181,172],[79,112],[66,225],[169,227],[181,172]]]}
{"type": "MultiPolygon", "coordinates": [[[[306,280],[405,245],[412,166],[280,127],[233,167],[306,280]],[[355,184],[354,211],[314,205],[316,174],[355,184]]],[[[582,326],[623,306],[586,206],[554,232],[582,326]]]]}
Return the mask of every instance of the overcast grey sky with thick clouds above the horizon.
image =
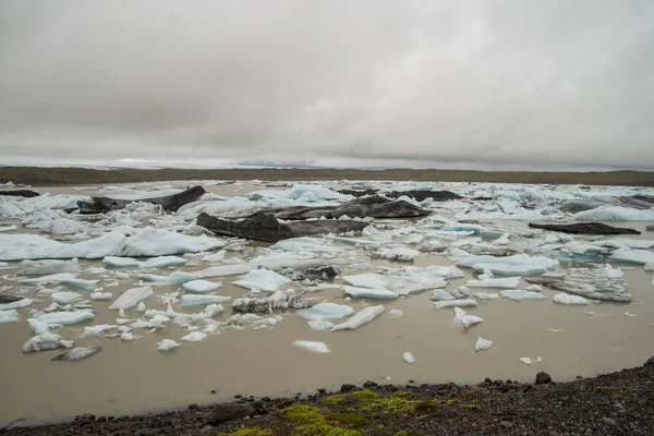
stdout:
{"type": "Polygon", "coordinates": [[[16,156],[654,169],[654,1],[0,0],[16,156]]]}

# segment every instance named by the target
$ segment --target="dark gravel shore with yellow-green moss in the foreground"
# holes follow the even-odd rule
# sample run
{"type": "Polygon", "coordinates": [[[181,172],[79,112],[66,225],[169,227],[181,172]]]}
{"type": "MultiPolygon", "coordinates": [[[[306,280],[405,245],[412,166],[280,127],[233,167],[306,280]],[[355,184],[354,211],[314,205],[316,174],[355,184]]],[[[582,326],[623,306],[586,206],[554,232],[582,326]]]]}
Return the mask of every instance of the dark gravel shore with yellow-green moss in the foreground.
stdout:
{"type": "Polygon", "coordinates": [[[643,366],[570,383],[343,385],[295,398],[237,396],[230,403],[138,416],[77,416],[0,429],[7,435],[652,435],[654,358],[643,366]]]}

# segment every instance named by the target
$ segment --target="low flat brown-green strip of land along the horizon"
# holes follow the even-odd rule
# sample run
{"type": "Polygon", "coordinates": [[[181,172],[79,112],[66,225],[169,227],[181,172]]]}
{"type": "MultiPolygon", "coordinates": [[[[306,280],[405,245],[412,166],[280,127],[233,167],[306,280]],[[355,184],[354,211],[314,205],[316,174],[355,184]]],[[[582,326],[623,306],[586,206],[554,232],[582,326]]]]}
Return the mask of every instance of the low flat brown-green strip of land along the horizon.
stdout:
{"type": "Polygon", "coordinates": [[[403,180],[415,182],[525,183],[554,185],[654,186],[654,171],[467,171],[393,168],[359,169],[90,169],[0,167],[0,183],[66,186],[100,183],[140,183],[182,180],[403,180]]]}

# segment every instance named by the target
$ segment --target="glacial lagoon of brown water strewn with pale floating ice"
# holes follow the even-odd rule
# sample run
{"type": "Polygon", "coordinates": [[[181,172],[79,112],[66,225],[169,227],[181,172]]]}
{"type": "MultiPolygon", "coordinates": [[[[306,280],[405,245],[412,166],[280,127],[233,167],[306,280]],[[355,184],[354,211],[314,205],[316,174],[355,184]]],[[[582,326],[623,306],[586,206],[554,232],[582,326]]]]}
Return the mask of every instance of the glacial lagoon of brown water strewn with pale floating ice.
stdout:
{"type": "Polygon", "coordinates": [[[17,372],[0,382],[8,391],[39,392],[3,404],[8,421],[50,416],[51,404],[60,404],[55,417],[130,413],[387,376],[531,382],[536,364],[565,379],[651,356],[654,232],[644,228],[654,209],[629,208],[620,198],[654,195],[653,189],[185,181],[105,186],[99,194],[140,201],[96,216],[75,210],[96,186],[49,191],[0,197],[0,295],[8,295],[0,328],[9,344],[3,361],[17,372]],[[210,193],[175,214],[143,202],[194,184],[210,193]],[[448,190],[463,198],[422,202],[429,215],[415,219],[363,218],[368,227],[361,233],[276,244],[215,237],[195,225],[203,211],[242,218],[334,206],[353,198],[342,189],[448,190]],[[642,233],[579,235],[528,226],[593,219],[642,233]],[[302,275],[320,266],[342,272],[302,275]],[[550,301],[516,302],[528,299],[550,301]],[[475,340],[476,351],[493,348],[471,355],[475,340]],[[329,352],[293,351],[320,344],[329,352]],[[43,351],[23,355],[21,347],[43,351]],[[50,362],[73,347],[102,352],[70,365],[50,362]],[[407,350],[419,356],[415,364],[399,359],[407,350]],[[532,366],[520,363],[523,355],[532,366]],[[217,396],[198,393],[211,389],[206,374],[227,373],[217,396]],[[57,395],[62,390],[70,392],[65,403],[57,395]]]}

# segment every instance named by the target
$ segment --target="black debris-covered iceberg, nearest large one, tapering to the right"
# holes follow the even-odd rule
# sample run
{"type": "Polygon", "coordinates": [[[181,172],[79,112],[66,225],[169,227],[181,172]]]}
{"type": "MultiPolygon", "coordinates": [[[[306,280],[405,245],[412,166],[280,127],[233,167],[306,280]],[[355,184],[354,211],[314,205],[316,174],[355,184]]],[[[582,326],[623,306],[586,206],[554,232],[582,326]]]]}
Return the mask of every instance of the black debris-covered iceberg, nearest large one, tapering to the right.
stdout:
{"type": "Polygon", "coordinates": [[[263,242],[327,233],[361,231],[367,223],[350,220],[317,220],[281,223],[272,215],[257,213],[241,221],[230,221],[202,213],[197,225],[217,234],[239,237],[263,242]]]}

